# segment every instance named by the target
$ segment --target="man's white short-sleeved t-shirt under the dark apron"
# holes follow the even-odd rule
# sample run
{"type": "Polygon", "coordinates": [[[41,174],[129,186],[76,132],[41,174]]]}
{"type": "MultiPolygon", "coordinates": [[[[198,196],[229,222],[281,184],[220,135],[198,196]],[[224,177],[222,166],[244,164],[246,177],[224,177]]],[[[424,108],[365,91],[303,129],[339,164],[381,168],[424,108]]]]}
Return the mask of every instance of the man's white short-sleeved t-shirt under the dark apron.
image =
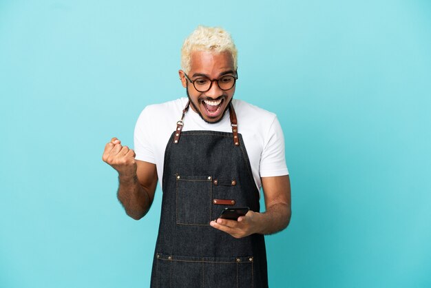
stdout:
{"type": "MultiPolygon", "coordinates": [[[[156,164],[160,186],[167,141],[176,130],[188,99],[148,105],[140,113],[134,132],[136,160],[156,164]]],[[[284,156],[284,136],[275,114],[241,100],[232,100],[238,119],[238,133],[249,155],[251,172],[258,190],[261,177],[288,175],[284,156]]],[[[229,111],[218,123],[207,123],[191,107],[183,119],[182,131],[212,130],[232,132],[229,111]]],[[[181,140],[180,140],[181,141],[181,140]]]]}

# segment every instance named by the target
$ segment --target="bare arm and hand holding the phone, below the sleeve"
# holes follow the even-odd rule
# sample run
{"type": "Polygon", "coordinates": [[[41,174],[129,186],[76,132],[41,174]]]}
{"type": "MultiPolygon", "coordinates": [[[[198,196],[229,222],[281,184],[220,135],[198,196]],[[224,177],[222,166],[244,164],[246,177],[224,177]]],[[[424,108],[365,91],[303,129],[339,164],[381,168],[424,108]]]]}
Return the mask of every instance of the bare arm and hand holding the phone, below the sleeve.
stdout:
{"type": "Polygon", "coordinates": [[[286,228],[291,220],[291,185],[288,175],[262,178],[266,212],[249,211],[238,221],[217,219],[210,225],[242,238],[251,234],[273,234],[286,228]]]}

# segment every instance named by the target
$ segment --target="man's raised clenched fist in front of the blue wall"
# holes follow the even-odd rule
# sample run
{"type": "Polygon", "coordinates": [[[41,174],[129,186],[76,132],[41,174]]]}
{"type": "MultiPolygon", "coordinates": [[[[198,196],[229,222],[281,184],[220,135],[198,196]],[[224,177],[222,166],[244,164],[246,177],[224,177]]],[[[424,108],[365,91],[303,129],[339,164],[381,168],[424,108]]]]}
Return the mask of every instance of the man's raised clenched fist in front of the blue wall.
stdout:
{"type": "Polygon", "coordinates": [[[120,176],[135,176],[135,156],[132,149],[121,145],[121,141],[114,137],[105,145],[102,160],[116,169],[120,176]]]}

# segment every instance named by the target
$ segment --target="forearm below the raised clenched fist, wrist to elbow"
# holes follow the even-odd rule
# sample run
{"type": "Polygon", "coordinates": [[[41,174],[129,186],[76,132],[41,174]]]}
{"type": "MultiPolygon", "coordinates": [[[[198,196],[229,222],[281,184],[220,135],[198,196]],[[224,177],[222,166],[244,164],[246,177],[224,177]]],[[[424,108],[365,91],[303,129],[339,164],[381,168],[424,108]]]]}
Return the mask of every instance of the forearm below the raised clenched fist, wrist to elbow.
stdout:
{"type": "Polygon", "coordinates": [[[151,206],[151,199],[138,182],[138,176],[118,176],[117,197],[125,212],[135,220],[143,218],[151,206]]]}

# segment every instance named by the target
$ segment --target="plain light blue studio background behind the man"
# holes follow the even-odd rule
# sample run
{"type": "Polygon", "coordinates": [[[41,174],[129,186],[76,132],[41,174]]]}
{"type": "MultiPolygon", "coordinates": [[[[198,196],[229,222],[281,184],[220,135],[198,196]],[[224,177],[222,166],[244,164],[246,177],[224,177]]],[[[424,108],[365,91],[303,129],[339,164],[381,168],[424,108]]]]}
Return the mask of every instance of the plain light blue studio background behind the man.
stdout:
{"type": "Polygon", "coordinates": [[[101,161],[185,95],[180,47],[220,25],[235,97],[275,112],[293,216],[271,287],[431,287],[431,2],[0,1],[0,287],[147,287],[140,221],[101,161]]]}

